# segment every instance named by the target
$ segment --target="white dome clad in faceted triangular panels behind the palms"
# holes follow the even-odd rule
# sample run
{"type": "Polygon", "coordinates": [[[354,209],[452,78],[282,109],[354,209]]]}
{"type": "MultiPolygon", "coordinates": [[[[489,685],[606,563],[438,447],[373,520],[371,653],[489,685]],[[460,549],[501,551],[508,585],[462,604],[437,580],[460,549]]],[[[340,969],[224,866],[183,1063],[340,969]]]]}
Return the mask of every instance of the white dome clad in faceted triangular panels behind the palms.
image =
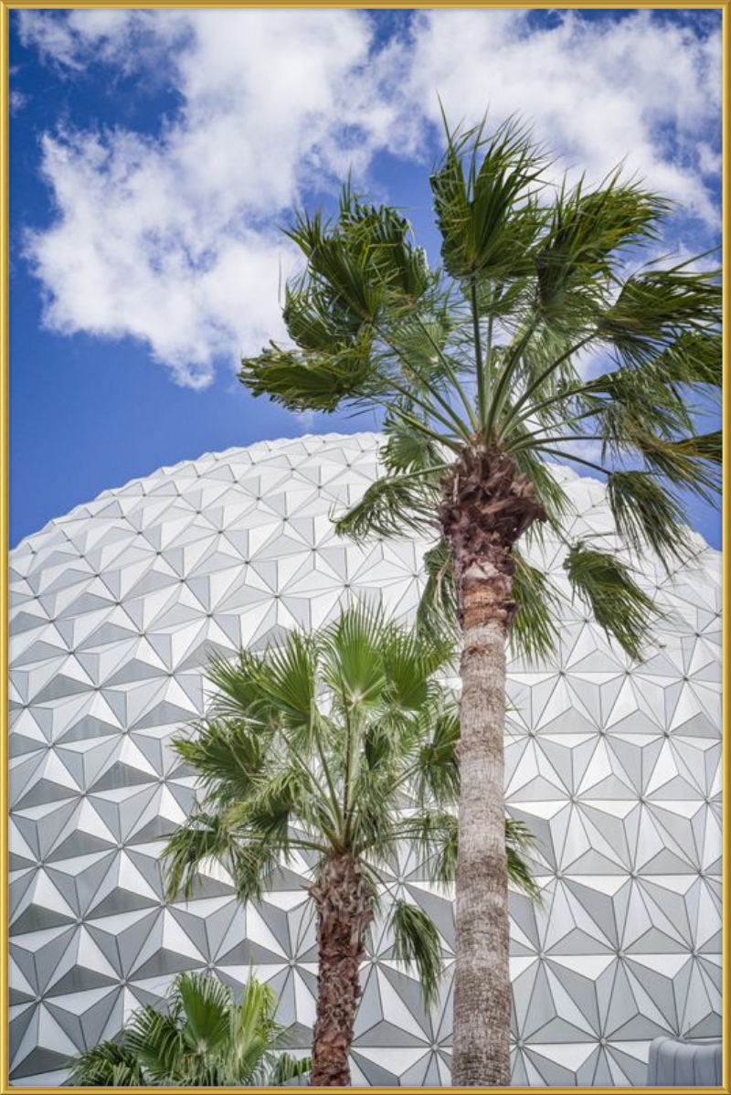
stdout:
{"type": "MultiPolygon", "coordinates": [[[[182,969],[236,987],[254,964],[309,1045],[308,864],[245,910],[220,877],[165,906],[161,838],[194,795],[166,742],[202,711],[212,649],[317,627],[348,596],[414,618],[427,544],[357,546],[329,516],[376,477],[379,441],[302,437],[164,468],[11,553],[14,1083],[60,1083],[70,1054],[182,969]]],[[[572,532],[611,533],[604,486],[557,474],[572,532]]],[[[643,561],[666,614],[642,664],[567,604],[556,659],[510,665],[508,809],[536,837],[544,898],[511,898],[518,1084],[642,1084],[655,1035],[720,1031],[721,587],[718,553],[695,542],[672,577],[643,561]]],[[[547,535],[545,565],[568,590],[561,557],[547,535]]],[[[395,879],[436,918],[450,960],[449,895],[415,862],[395,879]]],[[[426,1014],[378,931],[362,977],[353,1083],[448,1084],[449,977],[426,1014]]]]}

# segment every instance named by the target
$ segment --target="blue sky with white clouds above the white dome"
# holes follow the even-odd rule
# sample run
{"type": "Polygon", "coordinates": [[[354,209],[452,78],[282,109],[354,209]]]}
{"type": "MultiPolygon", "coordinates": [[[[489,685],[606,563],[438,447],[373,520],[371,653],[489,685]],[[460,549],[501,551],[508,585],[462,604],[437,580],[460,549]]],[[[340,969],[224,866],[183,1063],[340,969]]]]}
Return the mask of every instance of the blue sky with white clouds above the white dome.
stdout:
{"type": "MultiPolygon", "coordinates": [[[[438,94],[532,120],[559,161],[673,197],[720,241],[720,12],[11,11],[11,543],[205,451],[373,428],[253,401],[294,204],[348,170],[433,258],[438,94]]],[[[720,546],[716,507],[692,517],[720,546]]]]}

